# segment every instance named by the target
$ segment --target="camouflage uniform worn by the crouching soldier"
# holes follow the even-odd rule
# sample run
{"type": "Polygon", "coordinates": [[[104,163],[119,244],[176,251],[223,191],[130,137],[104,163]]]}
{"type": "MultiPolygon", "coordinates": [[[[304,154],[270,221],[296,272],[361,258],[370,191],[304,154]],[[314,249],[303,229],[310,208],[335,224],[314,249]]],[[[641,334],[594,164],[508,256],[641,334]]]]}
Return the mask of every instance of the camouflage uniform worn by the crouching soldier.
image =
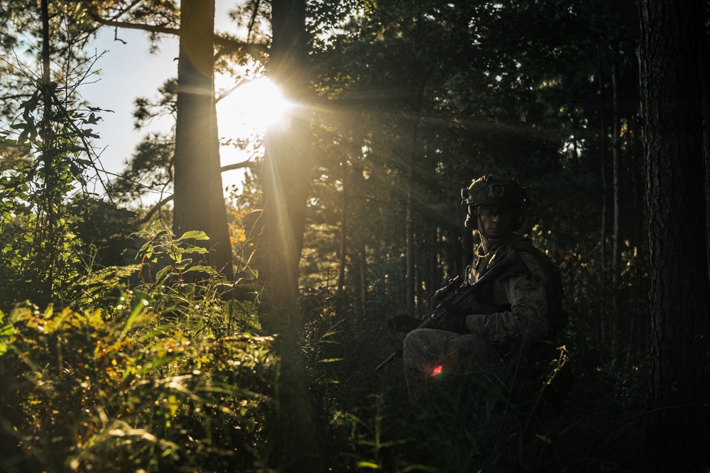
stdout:
{"type": "MultiPolygon", "coordinates": [[[[523,238],[513,233],[513,239],[523,238]]],[[[467,274],[469,282],[476,282],[498,257],[510,250],[510,242],[499,245],[490,255],[484,255],[479,247],[467,274]]],[[[427,380],[444,369],[465,374],[492,373],[505,382],[501,346],[519,346],[523,340],[545,337],[547,274],[535,256],[522,251],[518,255],[527,271],[488,284],[480,299],[488,306],[496,306],[497,311],[466,316],[466,328],[471,333],[420,328],[407,335],[404,364],[413,401],[425,394],[427,380]]]]}

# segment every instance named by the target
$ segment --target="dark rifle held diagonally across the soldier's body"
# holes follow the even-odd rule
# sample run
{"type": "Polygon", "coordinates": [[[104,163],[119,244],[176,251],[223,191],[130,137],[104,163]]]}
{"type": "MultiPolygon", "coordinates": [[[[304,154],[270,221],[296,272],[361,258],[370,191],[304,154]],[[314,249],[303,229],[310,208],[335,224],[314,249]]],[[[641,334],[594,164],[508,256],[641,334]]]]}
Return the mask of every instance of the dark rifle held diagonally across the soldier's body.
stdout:
{"type": "MultiPolygon", "coordinates": [[[[476,298],[481,288],[486,286],[486,284],[496,281],[496,279],[501,279],[503,276],[506,276],[511,268],[517,265],[525,266],[522,260],[520,260],[518,253],[514,250],[508,251],[502,258],[503,260],[496,262],[491,269],[488,269],[488,271],[473,284],[464,283],[464,279],[466,278],[461,274],[453,279],[449,279],[441,289],[438,289],[432,294],[432,299],[439,303],[434,309],[434,313],[414,330],[419,328],[437,328],[447,316],[464,317],[472,313],[471,306],[476,304],[476,298]]],[[[517,272],[510,272],[510,274],[517,274],[517,272]]],[[[479,311],[482,313],[493,313],[492,310],[482,308],[481,304],[477,305],[479,306],[479,311]]],[[[379,371],[383,366],[394,360],[395,357],[402,355],[403,351],[403,348],[395,351],[387,360],[381,362],[380,365],[375,368],[375,371],[379,371]]]]}

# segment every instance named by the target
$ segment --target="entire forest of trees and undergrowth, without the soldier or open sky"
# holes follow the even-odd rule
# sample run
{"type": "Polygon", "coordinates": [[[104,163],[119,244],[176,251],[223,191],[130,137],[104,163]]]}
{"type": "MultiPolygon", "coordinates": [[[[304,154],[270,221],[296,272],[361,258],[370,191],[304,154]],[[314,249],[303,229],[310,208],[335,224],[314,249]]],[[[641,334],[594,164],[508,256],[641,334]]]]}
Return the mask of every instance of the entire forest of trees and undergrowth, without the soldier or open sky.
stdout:
{"type": "Polygon", "coordinates": [[[234,0],[219,34],[214,0],[0,4],[0,471],[709,471],[708,1],[234,0]],[[120,175],[101,28],[180,38],[120,175]],[[220,140],[261,77],[288,116],[220,140]],[[488,173],[569,324],[524,396],[413,404],[391,320],[469,265],[488,173]]]}

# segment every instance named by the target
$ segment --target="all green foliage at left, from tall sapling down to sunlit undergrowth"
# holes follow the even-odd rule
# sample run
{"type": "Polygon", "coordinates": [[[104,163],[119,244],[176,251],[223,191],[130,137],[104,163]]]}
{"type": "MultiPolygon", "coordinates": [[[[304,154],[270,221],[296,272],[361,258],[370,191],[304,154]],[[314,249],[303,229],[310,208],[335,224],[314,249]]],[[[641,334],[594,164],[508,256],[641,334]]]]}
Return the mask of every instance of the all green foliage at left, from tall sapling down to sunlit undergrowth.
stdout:
{"type": "Polygon", "coordinates": [[[190,243],[202,232],[131,236],[133,213],[87,192],[97,110],[57,90],[37,82],[0,134],[2,468],[256,469],[278,372],[246,331],[256,274],[225,284],[190,243]],[[124,266],[134,238],[141,264],[124,266]]]}

